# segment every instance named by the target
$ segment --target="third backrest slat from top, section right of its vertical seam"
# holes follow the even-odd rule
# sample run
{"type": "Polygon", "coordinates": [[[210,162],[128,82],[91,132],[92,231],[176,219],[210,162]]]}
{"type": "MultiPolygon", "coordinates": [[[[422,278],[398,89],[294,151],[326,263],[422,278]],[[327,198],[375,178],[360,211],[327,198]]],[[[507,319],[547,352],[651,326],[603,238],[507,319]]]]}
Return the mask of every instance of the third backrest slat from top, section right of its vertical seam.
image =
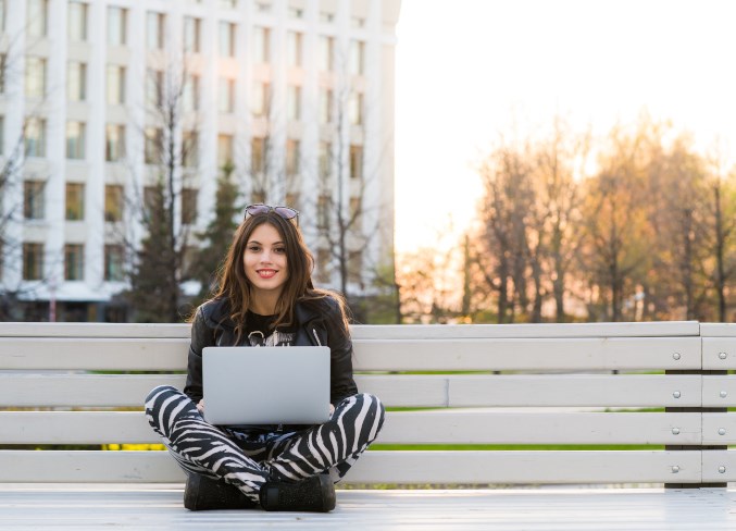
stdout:
{"type": "MultiPolygon", "coordinates": [[[[699,375],[456,375],[449,406],[697,407],[699,375]]],[[[381,396],[381,395],[378,395],[381,396]]]]}

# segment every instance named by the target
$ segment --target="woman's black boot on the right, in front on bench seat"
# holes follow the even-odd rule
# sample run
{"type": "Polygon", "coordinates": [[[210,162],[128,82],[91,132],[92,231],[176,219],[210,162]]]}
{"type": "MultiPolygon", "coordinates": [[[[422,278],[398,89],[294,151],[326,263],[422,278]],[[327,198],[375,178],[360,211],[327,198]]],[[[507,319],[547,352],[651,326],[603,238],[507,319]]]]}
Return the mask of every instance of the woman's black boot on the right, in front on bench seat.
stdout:
{"type": "Polygon", "coordinates": [[[335,508],[335,485],[328,474],[297,483],[267,481],[259,494],[265,510],[328,513],[335,508]]]}

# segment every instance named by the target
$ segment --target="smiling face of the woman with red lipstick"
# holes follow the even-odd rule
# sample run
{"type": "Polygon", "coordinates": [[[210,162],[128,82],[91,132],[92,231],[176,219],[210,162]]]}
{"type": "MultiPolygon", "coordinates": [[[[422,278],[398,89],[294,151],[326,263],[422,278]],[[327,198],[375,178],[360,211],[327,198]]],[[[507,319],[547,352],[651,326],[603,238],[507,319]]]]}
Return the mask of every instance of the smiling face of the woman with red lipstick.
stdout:
{"type": "Polygon", "coordinates": [[[278,296],[289,277],[286,263],[286,245],[270,223],[261,223],[250,234],[242,256],[246,276],[253,295],[278,296]]]}

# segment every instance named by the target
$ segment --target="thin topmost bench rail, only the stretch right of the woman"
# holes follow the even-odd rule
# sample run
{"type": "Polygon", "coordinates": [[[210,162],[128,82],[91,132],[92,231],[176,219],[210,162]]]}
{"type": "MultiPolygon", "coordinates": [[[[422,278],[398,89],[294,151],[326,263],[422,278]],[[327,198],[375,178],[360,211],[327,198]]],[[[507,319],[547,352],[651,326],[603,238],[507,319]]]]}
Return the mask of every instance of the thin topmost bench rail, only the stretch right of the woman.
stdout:
{"type": "Polygon", "coordinates": [[[698,336],[697,321],[533,324],[384,324],[352,326],[360,339],[698,336]]]}

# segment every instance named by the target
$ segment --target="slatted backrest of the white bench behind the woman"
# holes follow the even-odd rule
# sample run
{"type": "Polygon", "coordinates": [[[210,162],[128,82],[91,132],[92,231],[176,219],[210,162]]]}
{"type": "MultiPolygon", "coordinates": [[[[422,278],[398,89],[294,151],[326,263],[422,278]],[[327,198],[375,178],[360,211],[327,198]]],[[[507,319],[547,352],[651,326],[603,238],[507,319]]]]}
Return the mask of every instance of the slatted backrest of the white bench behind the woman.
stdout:
{"type": "MultiPolygon", "coordinates": [[[[389,408],[432,408],[390,411],[377,444],[502,447],[379,448],[347,482],[736,481],[736,452],[726,449],[736,444],[736,415],[726,412],[736,407],[727,374],[736,325],[362,325],[352,334],[361,391],[389,408]],[[590,449],[611,445],[636,449],[590,449]]],[[[141,402],[158,384],[183,386],[188,343],[186,324],[0,323],[0,446],[20,445],[0,449],[0,483],[183,482],[165,452],[34,448],[158,443],[141,402]]]]}

